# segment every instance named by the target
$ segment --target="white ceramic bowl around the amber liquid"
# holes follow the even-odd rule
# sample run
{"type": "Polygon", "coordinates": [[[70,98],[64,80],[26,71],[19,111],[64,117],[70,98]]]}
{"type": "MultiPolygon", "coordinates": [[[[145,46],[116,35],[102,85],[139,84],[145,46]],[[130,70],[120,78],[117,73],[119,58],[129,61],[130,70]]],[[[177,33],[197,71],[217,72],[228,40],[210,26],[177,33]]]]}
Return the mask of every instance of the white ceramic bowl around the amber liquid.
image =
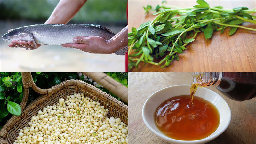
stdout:
{"type": "Polygon", "coordinates": [[[156,108],[162,102],[171,97],[189,95],[190,86],[191,85],[175,85],[164,88],[152,94],[144,103],[144,106],[142,108],[142,118],[144,123],[147,125],[150,131],[152,131],[154,134],[156,134],[156,136],[166,142],[172,144],[203,144],[215,139],[228,128],[231,120],[231,111],[228,103],[218,93],[206,88],[198,88],[195,95],[210,101],[217,107],[220,113],[220,125],[217,130],[213,132],[210,136],[201,140],[176,140],[165,136],[161,131],[158,130],[154,120],[154,113],[156,111],[156,108]]]}

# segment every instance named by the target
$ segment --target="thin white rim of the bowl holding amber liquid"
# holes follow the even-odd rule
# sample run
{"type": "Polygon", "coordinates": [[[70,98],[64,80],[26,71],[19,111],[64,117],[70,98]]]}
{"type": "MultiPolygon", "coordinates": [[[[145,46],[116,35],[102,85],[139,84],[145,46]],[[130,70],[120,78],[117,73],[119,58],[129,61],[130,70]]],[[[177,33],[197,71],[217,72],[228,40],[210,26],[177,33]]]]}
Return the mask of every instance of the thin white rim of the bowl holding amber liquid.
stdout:
{"type": "MultiPolygon", "coordinates": [[[[230,124],[230,121],[231,121],[231,110],[230,110],[230,107],[229,107],[227,101],[226,101],[225,99],[223,99],[223,98],[220,96],[220,94],[218,94],[217,92],[214,92],[214,91],[212,91],[212,90],[210,90],[210,89],[207,89],[207,88],[205,88],[205,87],[203,87],[203,89],[206,89],[207,91],[212,91],[213,93],[217,94],[217,95],[220,97],[220,99],[222,99],[222,100],[225,102],[225,104],[228,106],[228,112],[229,112],[229,114],[230,114],[230,116],[229,116],[229,118],[228,118],[228,121],[227,121],[228,123],[227,123],[219,132],[217,132],[217,133],[215,133],[215,134],[213,134],[213,135],[211,135],[211,136],[208,136],[208,137],[206,137],[206,138],[204,138],[204,139],[200,139],[200,140],[176,140],[176,139],[169,138],[169,137],[165,136],[164,134],[161,134],[161,133],[156,132],[156,131],[148,124],[148,122],[147,122],[147,120],[146,120],[146,118],[145,118],[145,112],[144,112],[144,111],[145,111],[145,105],[146,105],[146,103],[148,102],[148,100],[149,100],[151,97],[153,97],[154,95],[156,95],[158,92],[163,91],[164,89],[168,89],[168,88],[170,88],[170,87],[180,87],[180,86],[191,86],[191,85],[189,85],[189,84],[180,84],[180,85],[173,85],[173,86],[165,87],[165,88],[160,89],[160,90],[154,92],[153,94],[151,94],[151,95],[148,97],[148,99],[145,101],[145,103],[144,103],[144,105],[143,105],[143,107],[142,107],[142,119],[143,119],[144,123],[146,124],[146,126],[148,127],[148,129],[149,129],[151,132],[153,132],[156,136],[158,136],[159,138],[162,138],[163,140],[172,141],[172,142],[177,142],[177,143],[188,143],[188,144],[189,144],[189,143],[199,143],[199,142],[202,143],[202,142],[208,142],[208,141],[211,141],[211,140],[217,138],[220,134],[222,134],[222,133],[228,128],[228,125],[230,124]]],[[[216,130],[215,130],[215,131],[216,131],[216,130]]],[[[215,132],[215,131],[214,131],[214,132],[215,132]]]]}

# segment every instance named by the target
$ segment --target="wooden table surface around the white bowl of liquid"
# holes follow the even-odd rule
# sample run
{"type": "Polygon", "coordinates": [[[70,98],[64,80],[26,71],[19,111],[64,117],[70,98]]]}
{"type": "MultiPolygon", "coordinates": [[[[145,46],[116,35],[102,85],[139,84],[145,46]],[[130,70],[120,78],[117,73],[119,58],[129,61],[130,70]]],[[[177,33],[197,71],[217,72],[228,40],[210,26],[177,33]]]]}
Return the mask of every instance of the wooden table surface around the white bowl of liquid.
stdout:
{"type": "MultiPolygon", "coordinates": [[[[192,84],[192,73],[129,73],[129,142],[130,144],[166,144],[153,134],[142,120],[142,107],[154,92],[172,85],[192,84]]],[[[237,102],[225,97],[232,118],[228,129],[209,144],[255,144],[256,98],[237,102]]],[[[189,90],[188,90],[189,91],[189,90]]]]}

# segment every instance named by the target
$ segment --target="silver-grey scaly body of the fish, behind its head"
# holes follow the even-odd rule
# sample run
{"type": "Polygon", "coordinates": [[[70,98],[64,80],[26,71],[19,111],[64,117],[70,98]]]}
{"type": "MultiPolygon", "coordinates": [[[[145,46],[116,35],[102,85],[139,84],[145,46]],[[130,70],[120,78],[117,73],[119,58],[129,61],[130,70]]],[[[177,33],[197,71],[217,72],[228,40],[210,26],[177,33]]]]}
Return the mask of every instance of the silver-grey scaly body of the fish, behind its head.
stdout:
{"type": "Polygon", "coordinates": [[[32,25],[24,27],[38,44],[60,45],[74,43],[76,36],[100,36],[110,39],[115,34],[94,25],[32,25]]]}

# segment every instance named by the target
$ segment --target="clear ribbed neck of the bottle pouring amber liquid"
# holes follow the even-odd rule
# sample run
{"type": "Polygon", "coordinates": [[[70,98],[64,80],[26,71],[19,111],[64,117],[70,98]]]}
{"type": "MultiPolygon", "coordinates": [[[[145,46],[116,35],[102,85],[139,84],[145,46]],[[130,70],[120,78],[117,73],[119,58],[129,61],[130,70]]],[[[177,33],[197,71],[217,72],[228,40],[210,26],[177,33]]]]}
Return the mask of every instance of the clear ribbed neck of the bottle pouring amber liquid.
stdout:
{"type": "Polygon", "coordinates": [[[199,87],[213,86],[217,87],[220,84],[222,72],[194,72],[193,83],[199,87]]]}

